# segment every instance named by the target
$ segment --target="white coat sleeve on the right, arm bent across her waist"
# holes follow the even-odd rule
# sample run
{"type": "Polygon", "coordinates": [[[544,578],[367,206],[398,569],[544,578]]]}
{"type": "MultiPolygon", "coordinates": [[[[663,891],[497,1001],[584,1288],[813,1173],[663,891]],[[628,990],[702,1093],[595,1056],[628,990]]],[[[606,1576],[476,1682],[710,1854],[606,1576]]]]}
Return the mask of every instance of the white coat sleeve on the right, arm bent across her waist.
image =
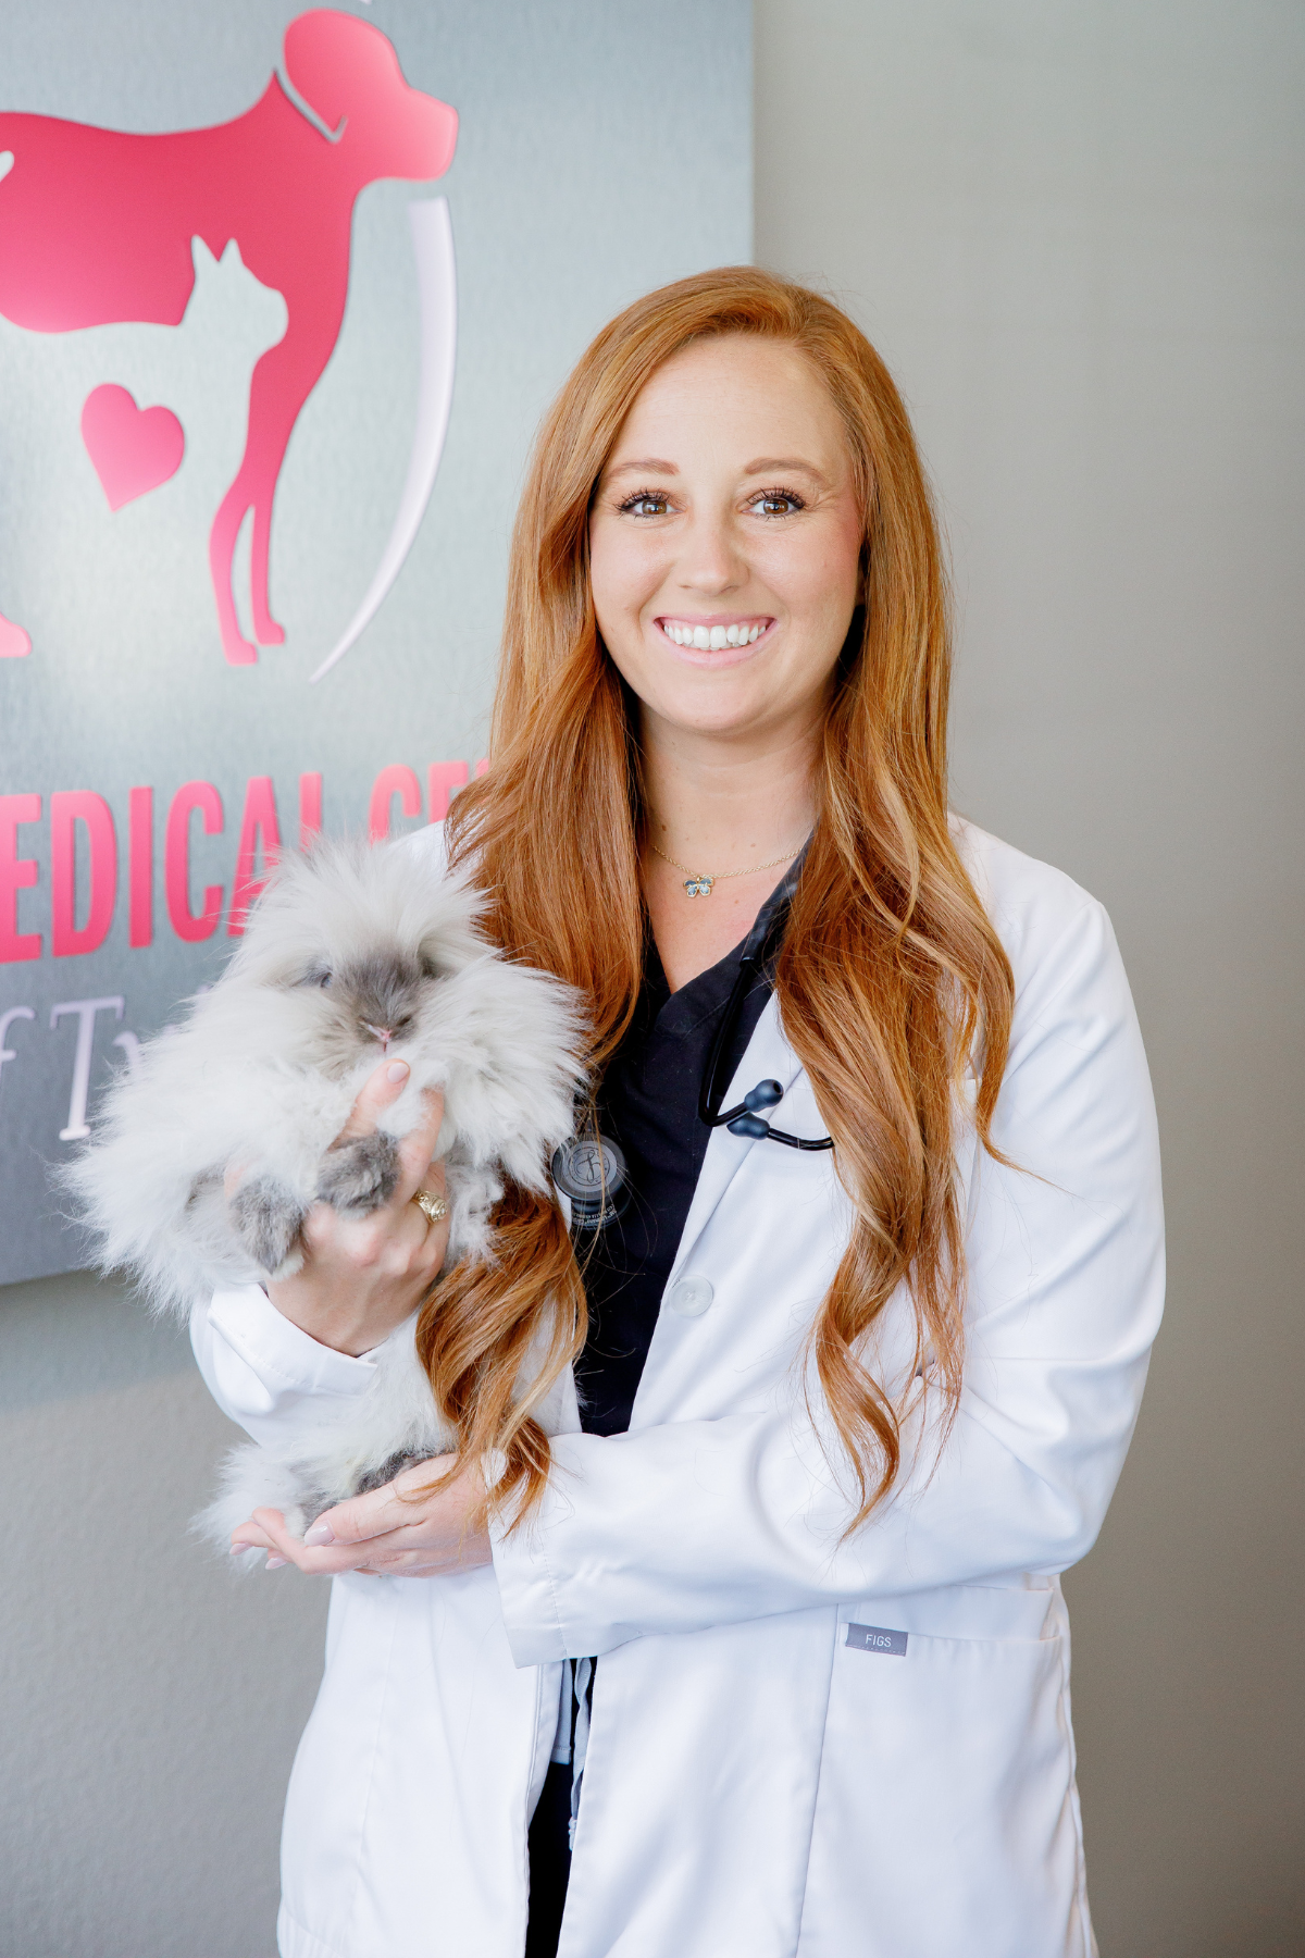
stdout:
{"type": "MultiPolygon", "coordinates": [[[[847,1470],[830,1467],[837,1449],[828,1433],[822,1447],[800,1388],[767,1412],[556,1437],[542,1512],[495,1527],[517,1664],[1058,1572],[1092,1547],[1164,1296],[1154,1108],[1100,905],[1084,897],[1015,975],[994,1140],[1019,1167],[974,1163],[967,1378],[949,1435],[906,1435],[892,1496],[851,1537],[847,1470]]],[[[712,1255],[710,1275],[726,1275],[728,1245],[712,1255]]]]}

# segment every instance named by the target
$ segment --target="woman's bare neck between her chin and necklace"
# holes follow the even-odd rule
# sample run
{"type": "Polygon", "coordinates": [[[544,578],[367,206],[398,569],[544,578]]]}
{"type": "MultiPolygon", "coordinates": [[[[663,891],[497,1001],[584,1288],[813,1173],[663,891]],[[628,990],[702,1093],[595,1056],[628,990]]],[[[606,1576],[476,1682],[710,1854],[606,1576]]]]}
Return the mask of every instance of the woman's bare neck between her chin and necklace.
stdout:
{"type": "Polygon", "coordinates": [[[816,818],[820,721],[722,740],[642,715],[648,834],[691,871],[749,869],[800,850],[816,818]]]}

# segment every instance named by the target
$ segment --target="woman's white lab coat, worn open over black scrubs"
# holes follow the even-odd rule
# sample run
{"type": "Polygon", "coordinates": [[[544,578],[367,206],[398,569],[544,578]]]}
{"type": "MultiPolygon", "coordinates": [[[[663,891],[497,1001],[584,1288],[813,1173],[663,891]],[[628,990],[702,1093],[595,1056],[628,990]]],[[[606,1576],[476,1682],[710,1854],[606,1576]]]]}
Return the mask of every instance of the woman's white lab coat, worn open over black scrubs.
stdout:
{"type": "MultiPolygon", "coordinates": [[[[284,1958],[520,1958],[526,1827],[583,1655],[562,1958],[1094,1952],[1058,1572],[1102,1527],[1160,1320],[1154,1112],[1102,907],[957,830],[1015,971],[994,1134],[1021,1169],[963,1145],[968,1363],[941,1455],[920,1435],[841,1541],[800,1369],[847,1198],[830,1153],[716,1130],[630,1433],[579,1433],[567,1376],[544,1512],[493,1568],[335,1580],[284,1958]]],[[[773,1001],[730,1096],[767,1075],[777,1120],[822,1134],[773,1001]]],[[[203,1304],[194,1343],[254,1437],[372,1373],[260,1290],[203,1304]]],[[[904,1300],[873,1357],[900,1384],[904,1300]]]]}

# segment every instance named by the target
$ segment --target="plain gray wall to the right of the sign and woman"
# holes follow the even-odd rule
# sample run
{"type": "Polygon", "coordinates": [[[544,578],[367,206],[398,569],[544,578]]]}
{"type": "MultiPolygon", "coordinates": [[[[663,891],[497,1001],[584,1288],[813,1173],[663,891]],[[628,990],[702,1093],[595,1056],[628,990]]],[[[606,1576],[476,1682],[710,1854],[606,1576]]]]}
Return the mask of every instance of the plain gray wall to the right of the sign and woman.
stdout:
{"type": "MultiPolygon", "coordinates": [[[[1068,1580],[1103,1958],[1305,1942],[1305,12],[759,0],[757,258],[902,382],[951,533],[953,793],[1102,897],[1168,1324],[1068,1580]]],[[[976,1950],[982,1935],[976,1933],[976,1950]]]]}

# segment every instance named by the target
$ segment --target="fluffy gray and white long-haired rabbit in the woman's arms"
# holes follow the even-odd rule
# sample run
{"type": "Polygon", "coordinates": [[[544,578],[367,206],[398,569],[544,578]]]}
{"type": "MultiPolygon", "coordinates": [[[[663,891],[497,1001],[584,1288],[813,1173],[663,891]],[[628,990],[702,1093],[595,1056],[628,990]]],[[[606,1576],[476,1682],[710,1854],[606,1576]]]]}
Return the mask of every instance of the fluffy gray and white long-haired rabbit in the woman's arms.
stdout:
{"type": "MultiPolygon", "coordinates": [[[[505,1177],[548,1190],[583,1067],[575,997],[495,952],[477,910],[464,881],[407,844],[288,856],[221,979],[141,1046],[67,1173],[102,1267],[127,1269],[157,1310],[184,1316],[205,1292],[290,1277],[315,1202],[364,1216],[393,1194],[423,1089],[444,1093],[446,1265],[493,1257],[505,1177]],[[385,1055],[411,1067],[403,1095],[374,1136],[337,1143],[385,1055]]],[[[301,1533],[405,1461],[444,1453],[452,1437],[415,1324],[378,1351],[368,1392],[333,1406],[293,1451],[237,1449],[205,1533],[225,1541],[260,1504],[301,1533]]]]}

